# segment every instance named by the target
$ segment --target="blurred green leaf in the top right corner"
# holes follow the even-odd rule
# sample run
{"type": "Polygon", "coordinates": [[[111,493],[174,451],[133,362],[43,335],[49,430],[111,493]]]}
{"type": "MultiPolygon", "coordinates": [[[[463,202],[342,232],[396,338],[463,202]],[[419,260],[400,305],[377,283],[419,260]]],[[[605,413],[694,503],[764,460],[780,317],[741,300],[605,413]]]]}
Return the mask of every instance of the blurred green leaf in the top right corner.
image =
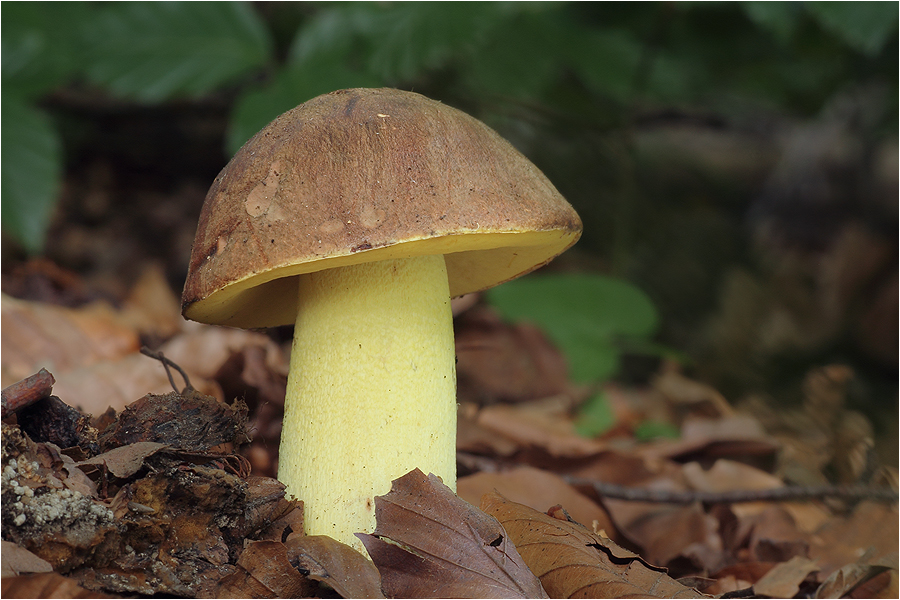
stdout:
{"type": "Polygon", "coordinates": [[[807,11],[851,48],[874,57],[897,29],[896,2],[807,2],[807,11]]]}

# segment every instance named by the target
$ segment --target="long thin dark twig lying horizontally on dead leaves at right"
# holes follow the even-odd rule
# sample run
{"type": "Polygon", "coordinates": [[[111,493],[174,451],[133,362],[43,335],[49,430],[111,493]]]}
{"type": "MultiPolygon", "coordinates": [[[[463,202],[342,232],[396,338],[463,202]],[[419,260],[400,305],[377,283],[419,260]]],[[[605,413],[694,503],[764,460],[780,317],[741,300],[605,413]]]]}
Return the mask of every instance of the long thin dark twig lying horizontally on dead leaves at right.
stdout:
{"type": "Polygon", "coordinates": [[[848,501],[874,500],[876,502],[897,502],[896,490],[872,488],[861,485],[789,485],[766,490],[732,490],[727,492],[648,490],[631,488],[612,483],[603,483],[581,477],[564,476],[571,485],[590,486],[601,498],[610,500],[628,500],[631,502],[658,502],[665,504],[736,504],[739,502],[785,501],[785,500],[820,500],[823,498],[839,498],[848,501]]]}

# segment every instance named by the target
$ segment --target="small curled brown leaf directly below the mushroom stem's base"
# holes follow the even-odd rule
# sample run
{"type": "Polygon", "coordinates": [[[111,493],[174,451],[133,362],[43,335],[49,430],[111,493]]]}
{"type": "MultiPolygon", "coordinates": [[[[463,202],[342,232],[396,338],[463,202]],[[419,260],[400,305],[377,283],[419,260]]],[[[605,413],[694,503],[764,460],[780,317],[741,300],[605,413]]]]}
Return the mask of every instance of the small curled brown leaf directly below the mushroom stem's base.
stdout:
{"type": "MultiPolygon", "coordinates": [[[[384,598],[378,569],[365,556],[325,535],[296,536],[285,542],[307,577],[327,583],[344,598],[384,598]]],[[[294,562],[294,561],[292,561],[294,562]]]]}

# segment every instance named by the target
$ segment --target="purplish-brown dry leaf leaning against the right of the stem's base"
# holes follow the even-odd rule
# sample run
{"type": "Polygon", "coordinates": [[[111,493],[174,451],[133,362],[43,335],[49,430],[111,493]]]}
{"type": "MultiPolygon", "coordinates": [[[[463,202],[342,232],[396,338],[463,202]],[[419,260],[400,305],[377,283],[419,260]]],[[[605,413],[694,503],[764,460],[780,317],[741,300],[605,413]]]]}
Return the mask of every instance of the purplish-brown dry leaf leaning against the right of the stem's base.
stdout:
{"type": "Polygon", "coordinates": [[[414,469],[375,498],[375,533],[359,533],[398,598],[546,598],[503,527],[414,469]]]}

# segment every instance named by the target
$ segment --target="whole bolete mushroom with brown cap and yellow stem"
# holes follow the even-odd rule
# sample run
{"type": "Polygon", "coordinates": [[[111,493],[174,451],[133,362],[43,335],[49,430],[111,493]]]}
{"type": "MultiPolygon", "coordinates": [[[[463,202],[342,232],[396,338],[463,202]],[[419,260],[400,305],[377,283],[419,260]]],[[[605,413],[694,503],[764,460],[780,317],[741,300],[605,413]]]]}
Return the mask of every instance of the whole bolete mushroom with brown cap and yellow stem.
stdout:
{"type": "Polygon", "coordinates": [[[278,477],[307,533],[362,550],[413,468],[456,486],[450,299],[576,242],[550,181],[480,121],[419,94],[314,98],[248,141],[200,213],[184,316],[295,324],[278,477]]]}

